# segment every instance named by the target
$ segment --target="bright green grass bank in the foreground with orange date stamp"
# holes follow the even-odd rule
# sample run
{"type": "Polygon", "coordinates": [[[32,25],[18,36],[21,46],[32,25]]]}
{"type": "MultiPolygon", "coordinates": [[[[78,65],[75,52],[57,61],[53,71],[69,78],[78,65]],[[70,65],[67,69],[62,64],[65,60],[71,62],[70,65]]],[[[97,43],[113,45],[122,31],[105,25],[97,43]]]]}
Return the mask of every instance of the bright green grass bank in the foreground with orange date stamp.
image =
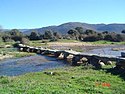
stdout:
{"type": "Polygon", "coordinates": [[[1,94],[125,94],[125,81],[105,70],[66,67],[28,73],[17,77],[1,77],[1,94]],[[104,83],[110,86],[105,86],[104,83]]]}

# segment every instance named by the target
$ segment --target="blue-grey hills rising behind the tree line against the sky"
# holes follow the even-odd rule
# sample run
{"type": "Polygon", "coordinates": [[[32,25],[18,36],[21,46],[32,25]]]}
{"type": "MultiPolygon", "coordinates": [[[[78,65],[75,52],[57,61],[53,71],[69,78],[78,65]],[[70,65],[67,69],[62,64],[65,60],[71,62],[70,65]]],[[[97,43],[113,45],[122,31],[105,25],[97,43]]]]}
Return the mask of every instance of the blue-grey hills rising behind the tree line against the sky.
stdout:
{"type": "Polygon", "coordinates": [[[80,22],[69,22],[61,24],[59,26],[48,26],[43,28],[25,30],[24,33],[29,34],[33,30],[37,30],[39,33],[44,33],[44,31],[46,30],[52,30],[52,31],[57,31],[61,34],[66,34],[69,29],[75,27],[83,27],[84,30],[92,29],[98,32],[109,31],[109,32],[120,33],[122,30],[125,29],[125,24],[88,24],[80,22]]]}

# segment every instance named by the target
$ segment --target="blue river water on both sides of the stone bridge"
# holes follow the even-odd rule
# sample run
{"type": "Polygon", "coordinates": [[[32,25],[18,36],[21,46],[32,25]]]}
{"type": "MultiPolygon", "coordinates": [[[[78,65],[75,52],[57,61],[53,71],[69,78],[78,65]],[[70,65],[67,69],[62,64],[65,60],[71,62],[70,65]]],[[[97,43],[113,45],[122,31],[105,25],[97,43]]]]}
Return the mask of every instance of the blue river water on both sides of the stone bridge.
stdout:
{"type": "MultiPolygon", "coordinates": [[[[121,51],[112,51],[112,48],[123,48],[123,46],[110,46],[93,49],[83,53],[101,54],[120,56],[121,51]]],[[[57,60],[56,58],[35,55],[29,57],[22,57],[18,59],[6,59],[0,61],[0,75],[17,76],[29,72],[38,72],[51,68],[59,68],[68,66],[65,61],[57,60]]]]}

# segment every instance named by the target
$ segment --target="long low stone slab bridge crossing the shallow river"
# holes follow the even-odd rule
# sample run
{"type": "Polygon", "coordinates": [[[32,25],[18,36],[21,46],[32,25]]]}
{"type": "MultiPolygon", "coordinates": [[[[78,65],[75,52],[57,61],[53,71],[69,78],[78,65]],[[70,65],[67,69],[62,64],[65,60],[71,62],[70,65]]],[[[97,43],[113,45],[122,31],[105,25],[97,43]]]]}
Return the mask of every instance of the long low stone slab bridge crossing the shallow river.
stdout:
{"type": "Polygon", "coordinates": [[[92,64],[98,68],[104,65],[112,65],[112,61],[116,62],[117,68],[125,68],[125,58],[111,55],[84,54],[73,50],[52,50],[42,47],[31,47],[23,44],[18,46],[20,51],[38,53],[55,57],[59,60],[65,60],[70,65],[87,65],[92,64]]]}

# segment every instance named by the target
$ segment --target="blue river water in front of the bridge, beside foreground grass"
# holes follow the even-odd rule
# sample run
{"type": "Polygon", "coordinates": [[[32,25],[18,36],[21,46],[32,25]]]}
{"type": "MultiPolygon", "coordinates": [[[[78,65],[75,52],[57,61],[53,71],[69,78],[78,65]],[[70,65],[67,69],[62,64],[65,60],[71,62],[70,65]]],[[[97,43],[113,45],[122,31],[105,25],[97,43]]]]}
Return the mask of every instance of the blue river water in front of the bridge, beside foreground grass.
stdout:
{"type": "Polygon", "coordinates": [[[0,61],[0,75],[17,76],[28,72],[38,72],[45,69],[67,66],[64,61],[56,58],[35,55],[18,59],[0,61]]]}

